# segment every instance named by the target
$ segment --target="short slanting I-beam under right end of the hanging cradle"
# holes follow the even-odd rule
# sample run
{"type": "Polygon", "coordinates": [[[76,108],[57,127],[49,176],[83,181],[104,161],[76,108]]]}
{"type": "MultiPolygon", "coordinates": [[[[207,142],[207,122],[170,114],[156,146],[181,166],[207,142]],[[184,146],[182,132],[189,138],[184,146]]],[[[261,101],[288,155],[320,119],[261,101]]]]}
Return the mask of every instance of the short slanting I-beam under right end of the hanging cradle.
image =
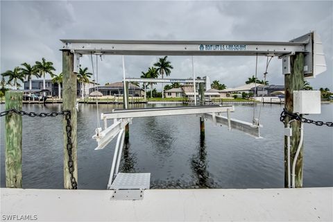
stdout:
{"type": "MultiPolygon", "coordinates": [[[[212,114],[206,113],[204,115],[205,115],[205,119],[210,119],[210,120],[214,121],[212,114]]],[[[228,126],[228,117],[216,115],[215,120],[216,120],[216,123],[218,123],[218,124],[228,126]]],[[[260,137],[260,128],[262,128],[262,125],[255,126],[255,125],[253,125],[253,123],[248,123],[246,121],[241,121],[238,119],[230,118],[230,126],[231,126],[231,129],[239,130],[243,133],[246,133],[246,134],[256,137],[256,138],[261,138],[260,137]]]]}

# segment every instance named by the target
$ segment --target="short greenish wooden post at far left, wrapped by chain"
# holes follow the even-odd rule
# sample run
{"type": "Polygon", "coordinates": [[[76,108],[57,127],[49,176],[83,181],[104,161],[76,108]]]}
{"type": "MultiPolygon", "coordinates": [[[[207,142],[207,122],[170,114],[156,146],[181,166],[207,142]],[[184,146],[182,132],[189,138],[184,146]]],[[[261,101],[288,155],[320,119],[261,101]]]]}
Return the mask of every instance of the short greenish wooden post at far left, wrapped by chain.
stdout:
{"type": "MultiPolygon", "coordinates": [[[[22,92],[5,94],[6,110],[22,110],[22,92]]],[[[6,187],[22,188],[22,116],[12,113],[5,119],[6,187]]]]}

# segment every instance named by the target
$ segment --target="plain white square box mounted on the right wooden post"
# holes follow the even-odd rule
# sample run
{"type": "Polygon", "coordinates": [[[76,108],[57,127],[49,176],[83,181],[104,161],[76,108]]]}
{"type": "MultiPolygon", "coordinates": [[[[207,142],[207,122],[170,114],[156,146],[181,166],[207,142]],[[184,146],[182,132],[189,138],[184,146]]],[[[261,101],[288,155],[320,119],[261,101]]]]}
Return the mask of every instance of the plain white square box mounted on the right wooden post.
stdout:
{"type": "Polygon", "coordinates": [[[293,112],[321,114],[321,92],[318,90],[293,91],[293,112]]]}

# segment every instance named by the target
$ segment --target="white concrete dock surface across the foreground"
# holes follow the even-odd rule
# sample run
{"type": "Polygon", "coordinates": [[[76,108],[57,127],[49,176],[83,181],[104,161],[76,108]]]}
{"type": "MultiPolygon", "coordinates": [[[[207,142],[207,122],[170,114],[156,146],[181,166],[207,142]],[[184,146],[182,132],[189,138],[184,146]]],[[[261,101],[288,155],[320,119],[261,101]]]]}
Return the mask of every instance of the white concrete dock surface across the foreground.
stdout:
{"type": "Polygon", "coordinates": [[[142,200],[111,190],[1,188],[1,219],[37,221],[332,221],[333,187],[146,189],[142,200]]]}

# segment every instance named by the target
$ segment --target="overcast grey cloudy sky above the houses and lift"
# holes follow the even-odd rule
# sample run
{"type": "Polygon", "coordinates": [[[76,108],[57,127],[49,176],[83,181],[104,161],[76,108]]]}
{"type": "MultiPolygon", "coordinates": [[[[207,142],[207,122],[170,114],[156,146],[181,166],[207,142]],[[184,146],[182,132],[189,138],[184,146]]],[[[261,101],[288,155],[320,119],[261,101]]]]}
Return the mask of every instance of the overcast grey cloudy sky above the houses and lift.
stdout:
{"type": "MultiPolygon", "coordinates": [[[[42,57],[62,69],[60,39],[237,40],[288,42],[316,30],[327,71],[309,82],[333,89],[333,1],[1,1],[1,73],[42,57]]],[[[126,56],[126,75],[139,77],[157,56],[126,56]]],[[[173,78],[191,77],[189,56],[170,56],[173,78]]],[[[92,71],[89,57],[81,60],[92,71]]],[[[259,57],[262,79],[266,58],[259,57]]],[[[196,76],[228,87],[255,73],[255,57],[194,57],[196,76]]],[[[99,62],[99,82],[122,78],[121,56],[99,62]]],[[[281,60],[268,68],[270,84],[283,84],[281,60]]]]}

